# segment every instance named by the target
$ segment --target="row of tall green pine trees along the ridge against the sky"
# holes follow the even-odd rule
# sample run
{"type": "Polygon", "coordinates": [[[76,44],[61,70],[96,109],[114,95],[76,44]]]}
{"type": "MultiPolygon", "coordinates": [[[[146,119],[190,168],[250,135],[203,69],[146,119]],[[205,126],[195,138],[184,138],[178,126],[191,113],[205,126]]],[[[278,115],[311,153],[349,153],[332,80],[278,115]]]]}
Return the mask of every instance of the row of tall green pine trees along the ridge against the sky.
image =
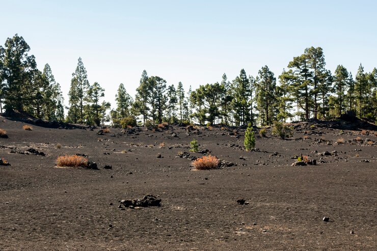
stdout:
{"type": "Polygon", "coordinates": [[[279,76],[268,66],[261,67],[257,76],[241,69],[231,81],[224,73],[220,83],[206,83],[196,90],[190,87],[188,92],[182,82],[168,85],[164,78],[148,76],[144,70],[134,98],[119,84],[116,109],[112,110],[111,103],[104,100],[105,89],[88,81],[81,58],[72,73],[68,106],[64,106],[61,86],[50,66],[38,70],[30,49],[17,34],[0,46],[2,113],[21,111],[45,120],[114,126],[126,117],[138,118],[141,123],[233,126],[334,119],[345,113],[370,121],[377,117],[377,69],[365,72],[360,64],[355,78],[342,65],[331,72],[320,47],[293,55],[279,76]]]}

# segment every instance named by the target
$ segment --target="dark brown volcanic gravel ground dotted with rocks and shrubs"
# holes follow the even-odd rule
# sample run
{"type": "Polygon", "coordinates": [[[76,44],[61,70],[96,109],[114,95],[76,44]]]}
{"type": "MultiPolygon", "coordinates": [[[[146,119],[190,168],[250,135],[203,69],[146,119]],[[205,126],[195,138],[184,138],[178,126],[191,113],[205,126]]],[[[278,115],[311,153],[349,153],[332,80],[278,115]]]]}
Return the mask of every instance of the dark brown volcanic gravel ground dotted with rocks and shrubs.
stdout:
{"type": "Polygon", "coordinates": [[[0,119],[9,136],[0,157],[11,164],[0,166],[0,250],[376,250],[375,131],[301,123],[286,141],[268,129],[246,152],[240,129],[96,135],[0,119]],[[193,138],[236,165],[194,171],[176,157],[193,138]],[[30,148],[46,156],[11,153],[30,148]],[[317,155],[325,151],[336,152],[317,155]],[[57,168],[65,154],[86,154],[99,170],[57,168]],[[317,165],[291,166],[300,154],[317,165]],[[145,194],[161,206],[118,208],[145,194]]]}

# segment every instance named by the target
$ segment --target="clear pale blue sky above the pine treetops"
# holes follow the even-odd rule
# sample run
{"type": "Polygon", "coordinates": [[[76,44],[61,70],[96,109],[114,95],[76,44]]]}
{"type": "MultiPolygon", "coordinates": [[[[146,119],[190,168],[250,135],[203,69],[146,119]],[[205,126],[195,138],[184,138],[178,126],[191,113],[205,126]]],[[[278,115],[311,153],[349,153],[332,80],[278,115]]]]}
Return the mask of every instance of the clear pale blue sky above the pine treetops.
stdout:
{"type": "Polygon", "coordinates": [[[78,57],[113,107],[119,83],[134,96],[144,69],[187,91],[241,68],[256,76],[267,65],[278,77],[310,46],[332,72],[377,67],[377,1],[0,0],[0,10],[0,43],[22,36],[66,105],[78,57]]]}

